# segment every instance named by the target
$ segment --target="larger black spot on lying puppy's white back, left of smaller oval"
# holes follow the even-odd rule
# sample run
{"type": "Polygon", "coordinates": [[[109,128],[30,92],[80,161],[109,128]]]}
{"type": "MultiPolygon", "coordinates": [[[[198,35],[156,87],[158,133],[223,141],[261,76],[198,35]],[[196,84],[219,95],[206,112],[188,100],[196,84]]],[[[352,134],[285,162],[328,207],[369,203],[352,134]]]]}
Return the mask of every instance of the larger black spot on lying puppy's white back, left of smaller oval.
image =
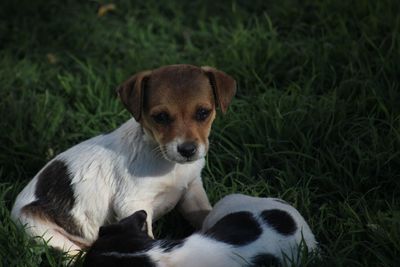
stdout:
{"type": "Polygon", "coordinates": [[[241,211],[226,215],[205,234],[231,245],[242,246],[257,240],[262,229],[250,212],[241,211]]]}

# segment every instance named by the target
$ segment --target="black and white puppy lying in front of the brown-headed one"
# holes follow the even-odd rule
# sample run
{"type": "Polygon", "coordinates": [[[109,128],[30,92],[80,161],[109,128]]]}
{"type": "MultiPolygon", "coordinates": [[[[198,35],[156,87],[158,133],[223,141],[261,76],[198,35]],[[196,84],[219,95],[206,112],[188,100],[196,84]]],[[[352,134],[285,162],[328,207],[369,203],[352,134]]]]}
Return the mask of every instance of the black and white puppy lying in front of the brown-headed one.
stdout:
{"type": "Polygon", "coordinates": [[[229,195],[206,218],[201,233],[179,241],[153,240],[138,211],[100,228],[85,266],[239,267],[296,264],[317,247],[300,213],[275,198],[229,195]]]}

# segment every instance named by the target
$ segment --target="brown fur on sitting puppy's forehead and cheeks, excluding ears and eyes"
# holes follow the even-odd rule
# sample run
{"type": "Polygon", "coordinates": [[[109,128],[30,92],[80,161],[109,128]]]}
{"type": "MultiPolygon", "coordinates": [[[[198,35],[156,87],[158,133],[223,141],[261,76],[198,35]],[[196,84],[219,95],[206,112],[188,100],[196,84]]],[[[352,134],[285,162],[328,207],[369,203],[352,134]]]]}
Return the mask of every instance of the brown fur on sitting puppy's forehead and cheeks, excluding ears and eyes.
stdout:
{"type": "Polygon", "coordinates": [[[215,118],[213,91],[207,75],[198,67],[173,65],[152,72],[144,98],[143,126],[161,145],[176,137],[208,146],[215,118]],[[199,108],[211,110],[204,121],[196,120],[199,108]],[[152,115],[167,112],[169,125],[159,125],[152,115]]]}

